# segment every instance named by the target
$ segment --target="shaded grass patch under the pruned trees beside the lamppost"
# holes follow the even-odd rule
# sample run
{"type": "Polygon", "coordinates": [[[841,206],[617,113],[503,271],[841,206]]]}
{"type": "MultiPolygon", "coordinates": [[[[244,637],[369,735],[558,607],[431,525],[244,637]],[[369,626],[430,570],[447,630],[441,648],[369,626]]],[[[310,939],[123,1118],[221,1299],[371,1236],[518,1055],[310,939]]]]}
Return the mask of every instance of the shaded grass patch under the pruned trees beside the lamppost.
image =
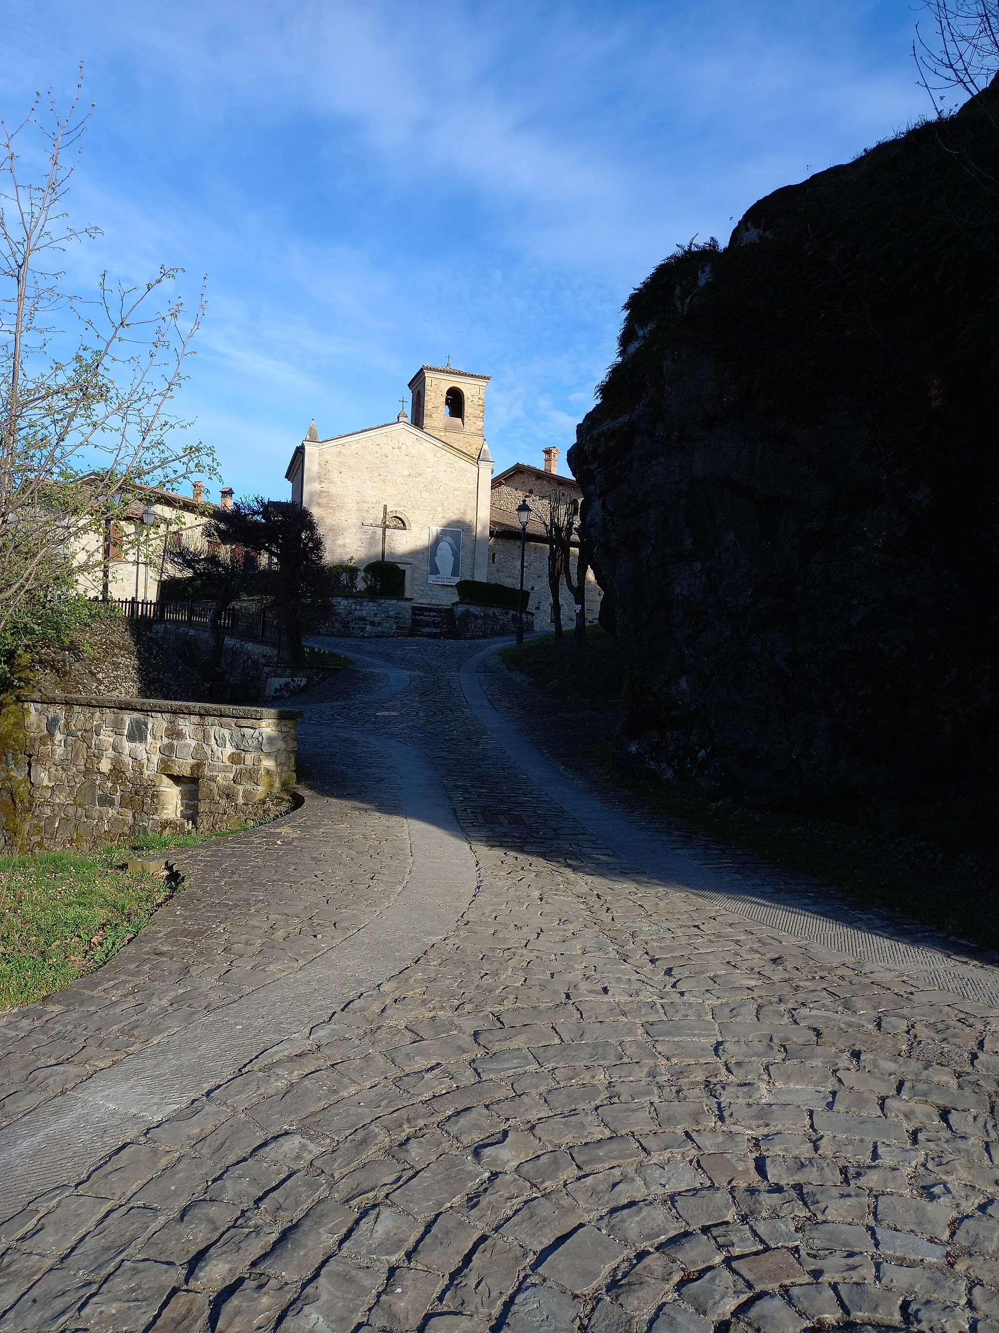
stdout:
{"type": "Polygon", "coordinates": [[[575,648],[570,629],[561,640],[545,635],[519,648],[503,648],[500,656],[550,698],[595,709],[621,706],[625,685],[621,645],[599,625],[586,627],[582,652],[575,648]]]}

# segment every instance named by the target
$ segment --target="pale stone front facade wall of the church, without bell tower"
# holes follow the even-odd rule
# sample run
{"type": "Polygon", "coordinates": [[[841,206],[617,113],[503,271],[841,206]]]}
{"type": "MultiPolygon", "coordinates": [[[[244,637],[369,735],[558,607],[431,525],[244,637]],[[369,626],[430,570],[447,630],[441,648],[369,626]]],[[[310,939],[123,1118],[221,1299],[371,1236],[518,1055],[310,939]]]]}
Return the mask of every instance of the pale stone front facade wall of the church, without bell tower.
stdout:
{"type": "Polygon", "coordinates": [[[354,559],[364,567],[381,559],[381,531],[370,524],[389,515],[405,531],[389,531],[385,559],[406,571],[406,596],[417,603],[449,605],[457,597],[446,584],[430,584],[429,529],[458,528],[461,577],[474,577],[476,493],[478,468],[432,441],[414,441],[405,428],[350,437],[318,449],[314,513],[326,543],[326,560],[354,559]]]}

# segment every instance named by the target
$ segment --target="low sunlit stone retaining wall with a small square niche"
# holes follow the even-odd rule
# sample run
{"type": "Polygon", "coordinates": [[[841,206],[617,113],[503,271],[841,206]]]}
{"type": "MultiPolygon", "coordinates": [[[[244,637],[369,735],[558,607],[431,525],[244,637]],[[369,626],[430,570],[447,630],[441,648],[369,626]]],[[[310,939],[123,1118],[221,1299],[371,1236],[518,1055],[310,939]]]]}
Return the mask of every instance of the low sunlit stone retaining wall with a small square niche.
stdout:
{"type": "Polygon", "coordinates": [[[210,833],[280,813],[294,782],[298,717],[274,708],[20,696],[4,710],[0,846],[88,848],[139,833],[210,833]],[[20,752],[12,753],[19,729],[20,752]]]}

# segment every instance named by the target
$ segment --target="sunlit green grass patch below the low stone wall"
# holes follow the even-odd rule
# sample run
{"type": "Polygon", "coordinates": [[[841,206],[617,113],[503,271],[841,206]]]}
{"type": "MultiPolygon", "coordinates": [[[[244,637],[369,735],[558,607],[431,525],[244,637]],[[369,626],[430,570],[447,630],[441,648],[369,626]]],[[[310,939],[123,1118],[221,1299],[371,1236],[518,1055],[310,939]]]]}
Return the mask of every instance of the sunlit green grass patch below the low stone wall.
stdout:
{"type": "Polygon", "coordinates": [[[100,968],[180,888],[176,877],[131,872],[125,861],[226,836],[148,834],[93,852],[0,857],[0,1010],[100,968]]]}

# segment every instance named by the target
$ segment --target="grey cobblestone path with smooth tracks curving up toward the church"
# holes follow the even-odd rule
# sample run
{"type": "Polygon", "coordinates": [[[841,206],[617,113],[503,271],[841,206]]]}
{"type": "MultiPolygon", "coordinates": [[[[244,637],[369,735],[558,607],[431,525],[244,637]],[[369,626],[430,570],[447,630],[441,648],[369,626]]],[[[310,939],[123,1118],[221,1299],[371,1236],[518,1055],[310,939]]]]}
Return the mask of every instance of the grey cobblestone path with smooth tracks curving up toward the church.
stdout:
{"type": "Polygon", "coordinates": [[[306,804],[0,1020],[0,1330],[999,1333],[995,970],[350,648],[306,804]]]}

